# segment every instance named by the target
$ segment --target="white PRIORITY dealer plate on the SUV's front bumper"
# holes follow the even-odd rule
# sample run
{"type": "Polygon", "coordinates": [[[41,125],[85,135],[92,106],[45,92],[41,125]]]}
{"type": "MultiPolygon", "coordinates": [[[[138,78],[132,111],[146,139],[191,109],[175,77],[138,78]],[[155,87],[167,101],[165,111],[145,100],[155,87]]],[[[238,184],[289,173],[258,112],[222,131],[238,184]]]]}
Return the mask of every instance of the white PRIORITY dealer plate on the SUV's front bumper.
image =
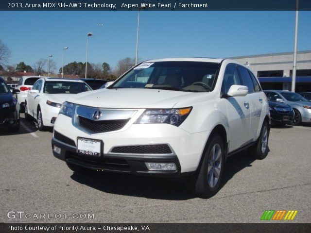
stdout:
{"type": "Polygon", "coordinates": [[[77,153],[100,157],[103,150],[104,143],[102,140],[77,137],[77,153]]]}

